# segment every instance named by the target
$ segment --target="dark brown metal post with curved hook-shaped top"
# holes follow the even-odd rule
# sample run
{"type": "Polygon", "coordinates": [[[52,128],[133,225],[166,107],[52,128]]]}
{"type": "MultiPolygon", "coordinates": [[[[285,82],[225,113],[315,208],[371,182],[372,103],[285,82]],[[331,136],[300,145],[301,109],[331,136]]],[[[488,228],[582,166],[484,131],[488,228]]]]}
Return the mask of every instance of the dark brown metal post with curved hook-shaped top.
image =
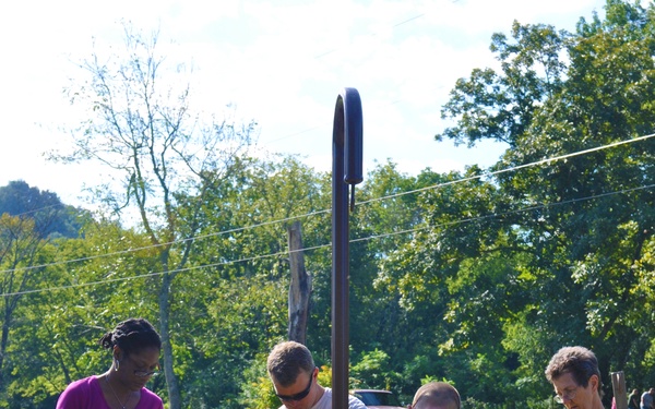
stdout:
{"type": "Polygon", "coordinates": [[[355,88],[336,98],[332,132],[332,408],[348,408],[348,187],[362,177],[361,99],[355,88]],[[344,158],[345,156],[345,158],[344,158]],[[345,160],[344,160],[345,159],[345,160]]]}

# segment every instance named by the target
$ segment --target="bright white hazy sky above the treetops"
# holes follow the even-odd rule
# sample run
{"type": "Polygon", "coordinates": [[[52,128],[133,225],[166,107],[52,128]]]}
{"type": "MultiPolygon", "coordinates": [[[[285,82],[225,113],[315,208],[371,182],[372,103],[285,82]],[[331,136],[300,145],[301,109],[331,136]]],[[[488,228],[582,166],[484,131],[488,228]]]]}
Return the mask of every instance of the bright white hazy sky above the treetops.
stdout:
{"type": "Polygon", "coordinates": [[[458,77],[493,67],[491,34],[520,23],[572,31],[600,0],[237,1],[34,0],[0,5],[0,185],[22,179],[84,205],[83,185],[108,176],[55,165],[43,153],[67,144],[79,120],[62,89],[92,39],[119,47],[121,19],[159,27],[169,61],[194,67],[193,103],[260,124],[259,152],[298,154],[330,170],[334,103],[343,87],[364,107],[365,170],[388,159],[402,171],[492,164],[502,146],[437,143],[440,108],[458,77]],[[171,43],[172,41],[172,43],[171,43]]]}

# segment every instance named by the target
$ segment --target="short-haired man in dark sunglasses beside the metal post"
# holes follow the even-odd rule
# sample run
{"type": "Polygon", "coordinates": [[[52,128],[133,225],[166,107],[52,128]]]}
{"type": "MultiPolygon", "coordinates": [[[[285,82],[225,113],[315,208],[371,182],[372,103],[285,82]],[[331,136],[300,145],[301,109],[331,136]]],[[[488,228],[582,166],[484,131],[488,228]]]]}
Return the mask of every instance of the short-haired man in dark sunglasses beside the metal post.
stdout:
{"type": "MultiPolygon", "coordinates": [[[[296,341],[276,345],[266,362],[279,409],[332,409],[332,389],[318,383],[319,369],[311,352],[296,341]]],[[[366,409],[361,400],[348,397],[348,409],[366,409]]]]}

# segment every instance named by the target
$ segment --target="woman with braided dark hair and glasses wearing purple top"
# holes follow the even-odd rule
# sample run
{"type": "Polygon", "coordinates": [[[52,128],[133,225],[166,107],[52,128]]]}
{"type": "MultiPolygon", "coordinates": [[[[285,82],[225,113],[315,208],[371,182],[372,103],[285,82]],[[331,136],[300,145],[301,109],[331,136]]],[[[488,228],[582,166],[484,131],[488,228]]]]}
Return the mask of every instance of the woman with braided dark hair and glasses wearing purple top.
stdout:
{"type": "Polygon", "coordinates": [[[111,366],[102,375],[71,383],[57,409],[163,409],[162,399],[145,388],[158,373],[162,339],[143,318],[118,324],[100,338],[111,351],[111,366]]]}

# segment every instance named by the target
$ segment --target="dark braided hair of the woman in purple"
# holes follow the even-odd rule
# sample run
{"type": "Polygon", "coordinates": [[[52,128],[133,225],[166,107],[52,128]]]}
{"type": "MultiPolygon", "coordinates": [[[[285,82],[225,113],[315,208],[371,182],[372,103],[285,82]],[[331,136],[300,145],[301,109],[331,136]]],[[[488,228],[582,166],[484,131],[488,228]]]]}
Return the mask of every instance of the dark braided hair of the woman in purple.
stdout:
{"type": "Polygon", "coordinates": [[[162,338],[145,318],[129,318],[119,323],[114,330],[103,335],[100,346],[112,350],[118,346],[127,356],[146,348],[162,349],[162,338]]]}

